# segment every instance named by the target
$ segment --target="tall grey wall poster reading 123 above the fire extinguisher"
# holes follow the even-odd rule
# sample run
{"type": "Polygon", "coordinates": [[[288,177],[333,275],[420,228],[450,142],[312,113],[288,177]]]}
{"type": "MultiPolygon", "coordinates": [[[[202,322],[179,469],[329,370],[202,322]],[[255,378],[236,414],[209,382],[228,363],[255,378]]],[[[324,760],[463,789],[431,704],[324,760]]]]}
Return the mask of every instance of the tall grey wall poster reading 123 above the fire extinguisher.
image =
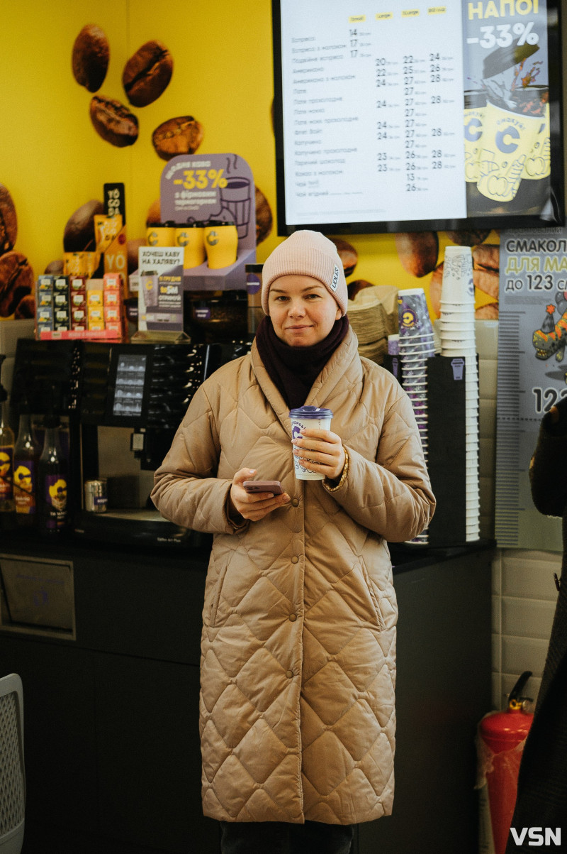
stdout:
{"type": "Polygon", "coordinates": [[[562,551],[561,522],[535,509],[529,460],[541,418],[567,395],[567,228],[500,233],[495,535],[562,551]]]}

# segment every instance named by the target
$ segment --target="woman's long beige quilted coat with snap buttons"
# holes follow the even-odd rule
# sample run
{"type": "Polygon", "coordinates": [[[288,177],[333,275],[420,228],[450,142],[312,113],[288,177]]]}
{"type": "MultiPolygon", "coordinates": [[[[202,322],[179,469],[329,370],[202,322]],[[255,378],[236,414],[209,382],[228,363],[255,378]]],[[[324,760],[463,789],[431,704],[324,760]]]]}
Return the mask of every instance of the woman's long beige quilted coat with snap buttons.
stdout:
{"type": "Polygon", "coordinates": [[[367,822],[391,812],[396,596],[386,540],[418,534],[435,500],[414,413],[350,330],[308,404],[334,412],[345,483],[292,473],[288,409],[256,345],[203,383],[155,474],[165,518],[212,532],[201,646],[206,816],[367,822]],[[234,473],[292,501],[234,529],[234,473]]]}

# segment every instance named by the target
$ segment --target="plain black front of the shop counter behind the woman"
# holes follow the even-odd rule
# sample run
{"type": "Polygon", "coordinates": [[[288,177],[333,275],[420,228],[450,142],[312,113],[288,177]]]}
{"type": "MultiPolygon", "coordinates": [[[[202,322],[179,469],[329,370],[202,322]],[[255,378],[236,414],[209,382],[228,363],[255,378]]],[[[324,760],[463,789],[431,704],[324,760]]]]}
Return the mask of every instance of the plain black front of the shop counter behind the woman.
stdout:
{"type": "MultiPolygon", "coordinates": [[[[394,813],[357,828],[352,854],[476,854],[493,546],[391,547],[394,813]]],[[[207,538],[172,550],[3,534],[0,674],[24,686],[23,854],[220,851],[217,822],[200,806],[209,550],[207,538]]]]}

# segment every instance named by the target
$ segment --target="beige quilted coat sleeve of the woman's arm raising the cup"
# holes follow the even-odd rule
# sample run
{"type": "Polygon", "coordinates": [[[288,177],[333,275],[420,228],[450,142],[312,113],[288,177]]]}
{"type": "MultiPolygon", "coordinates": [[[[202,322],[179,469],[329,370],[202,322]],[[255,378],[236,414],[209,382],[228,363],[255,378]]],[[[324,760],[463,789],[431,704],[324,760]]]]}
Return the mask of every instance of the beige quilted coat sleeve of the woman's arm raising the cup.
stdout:
{"type": "Polygon", "coordinates": [[[390,542],[425,529],[435,497],[408,396],[397,397],[385,413],[375,461],[347,449],[348,475],[332,494],[350,518],[390,542]]]}

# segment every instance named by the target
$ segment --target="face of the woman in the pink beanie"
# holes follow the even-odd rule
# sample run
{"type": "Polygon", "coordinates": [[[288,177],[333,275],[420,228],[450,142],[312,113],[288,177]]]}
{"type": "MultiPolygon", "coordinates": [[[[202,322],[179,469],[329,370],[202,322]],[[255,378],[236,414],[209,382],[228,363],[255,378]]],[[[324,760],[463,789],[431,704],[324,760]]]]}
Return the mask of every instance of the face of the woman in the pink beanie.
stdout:
{"type": "Polygon", "coordinates": [[[290,347],[322,341],[341,316],[325,285],[311,276],[276,278],[269,289],[268,307],[275,334],[290,347]]]}

